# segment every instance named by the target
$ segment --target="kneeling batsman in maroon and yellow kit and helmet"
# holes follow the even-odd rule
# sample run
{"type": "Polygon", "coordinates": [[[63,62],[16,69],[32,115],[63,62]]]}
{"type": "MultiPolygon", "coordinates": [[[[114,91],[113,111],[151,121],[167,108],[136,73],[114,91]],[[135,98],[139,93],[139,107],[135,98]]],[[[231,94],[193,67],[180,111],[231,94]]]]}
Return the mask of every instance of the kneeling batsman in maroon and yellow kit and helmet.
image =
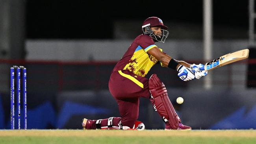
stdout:
{"type": "MultiPolygon", "coordinates": [[[[158,17],[149,17],[142,24],[142,34],[137,36],[123,57],[115,65],[109,79],[109,91],[119,106],[121,117],[99,120],[83,119],[83,129],[144,129],[139,116],[139,98],[148,98],[155,111],[165,122],[165,129],[191,130],[182,124],[169,100],[165,85],[156,74],[145,78],[155,64],[177,71],[183,81],[200,79],[207,72],[200,71],[204,65],[177,61],[165,54],[155,42],[165,42],[168,27],[158,17]]],[[[183,51],[181,51],[183,52],[183,51]]]]}

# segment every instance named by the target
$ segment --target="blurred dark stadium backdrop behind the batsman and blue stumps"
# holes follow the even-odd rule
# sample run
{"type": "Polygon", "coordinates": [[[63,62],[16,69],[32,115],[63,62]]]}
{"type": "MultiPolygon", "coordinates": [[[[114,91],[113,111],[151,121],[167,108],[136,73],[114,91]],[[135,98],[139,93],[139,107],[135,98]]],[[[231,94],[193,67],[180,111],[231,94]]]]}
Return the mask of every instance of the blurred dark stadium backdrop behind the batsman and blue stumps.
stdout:
{"type": "MultiPolygon", "coordinates": [[[[81,129],[82,118],[119,116],[108,91],[115,63],[141,33],[147,17],[169,26],[165,44],[175,59],[203,63],[203,2],[126,3],[0,1],[0,129],[9,129],[9,68],[28,69],[28,128],[81,129]]],[[[249,2],[213,0],[213,55],[250,48],[250,60],[213,70],[204,80],[180,81],[176,72],[154,66],[184,124],[193,129],[256,128],[255,49],[249,43],[249,2]],[[184,98],[177,105],[178,96],[184,98]]],[[[164,124],[147,99],[139,120],[147,129],[164,124]]]]}

